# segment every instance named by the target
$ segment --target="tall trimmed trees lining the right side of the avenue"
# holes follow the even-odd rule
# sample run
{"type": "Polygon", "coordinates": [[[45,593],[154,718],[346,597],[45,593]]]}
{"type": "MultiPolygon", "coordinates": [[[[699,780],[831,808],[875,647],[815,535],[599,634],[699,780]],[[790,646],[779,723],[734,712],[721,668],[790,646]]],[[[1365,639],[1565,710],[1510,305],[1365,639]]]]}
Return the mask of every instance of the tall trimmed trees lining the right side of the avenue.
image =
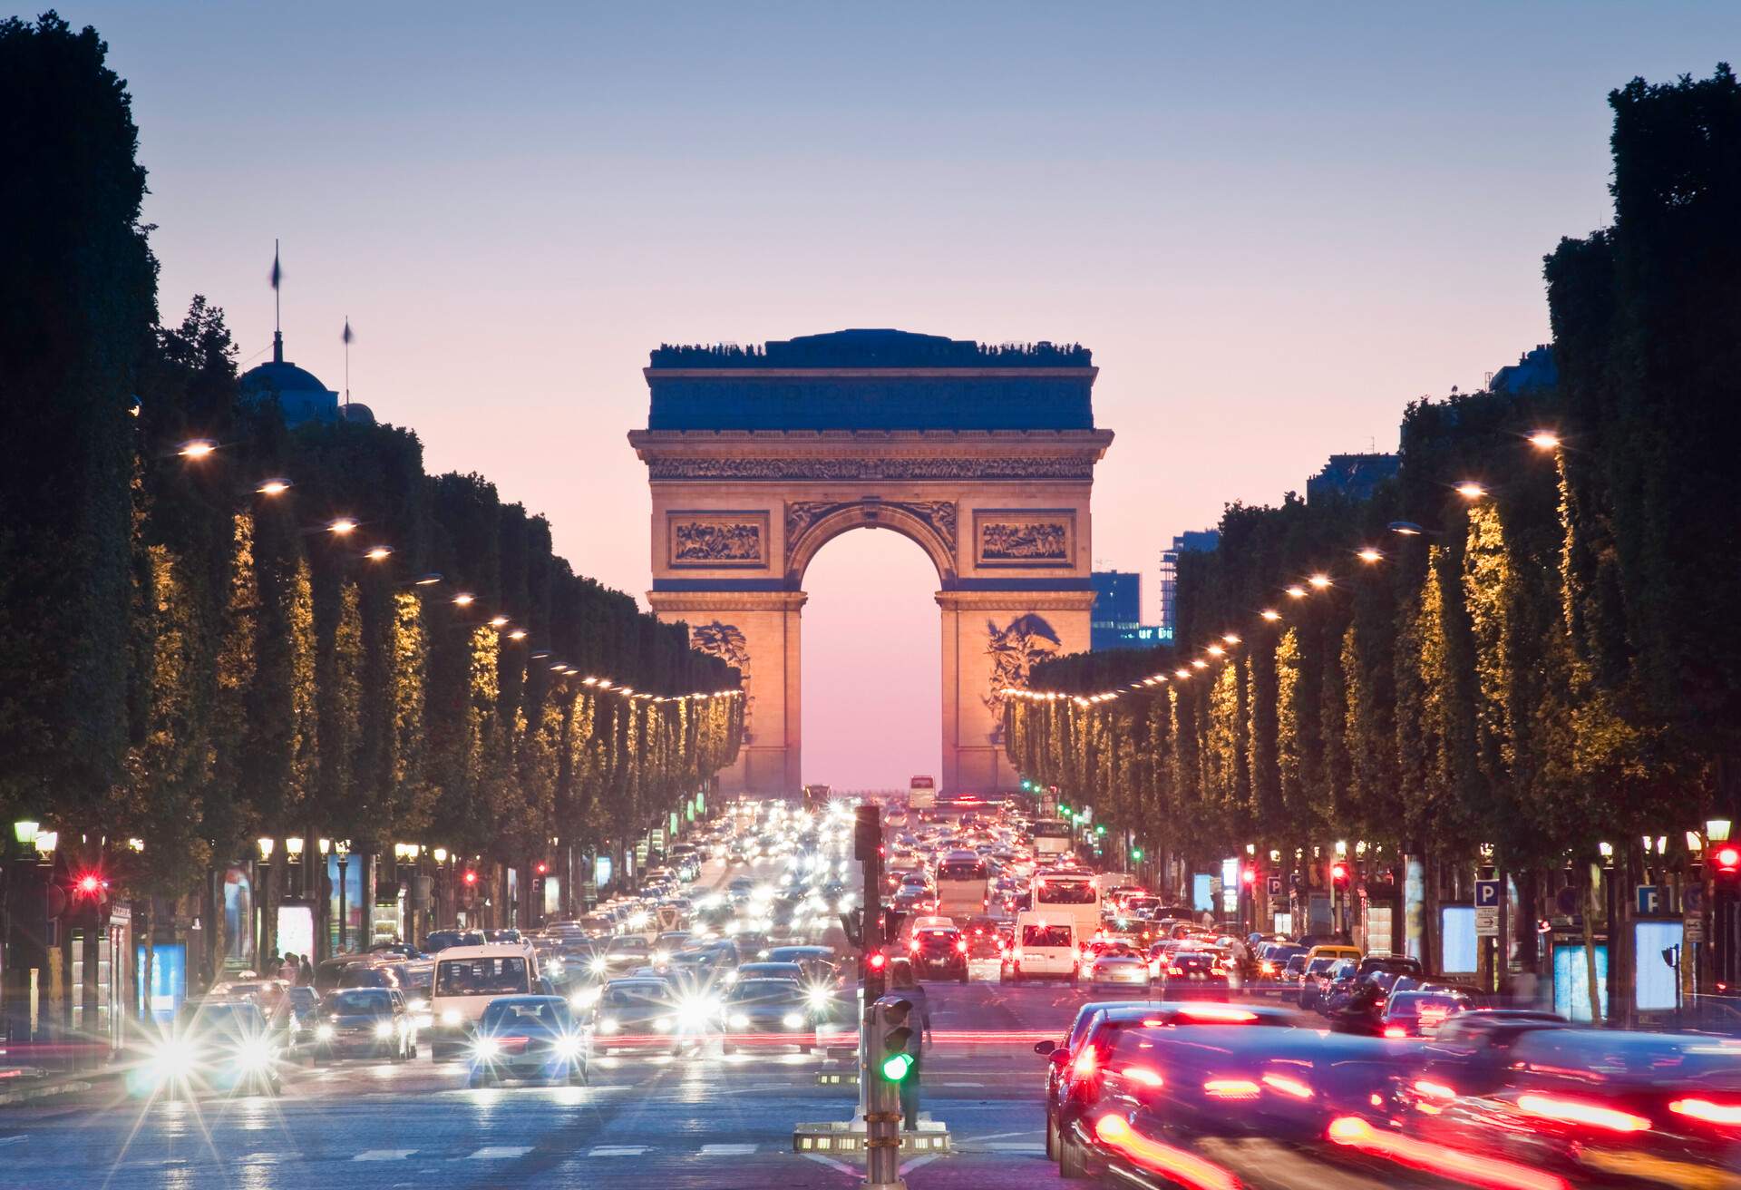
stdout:
{"type": "Polygon", "coordinates": [[[1360,838],[1525,871],[1741,808],[1741,91],[1610,103],[1616,223],[1546,261],[1558,383],[1408,406],[1370,502],[1227,507],[1175,646],[1010,700],[1024,774],[1205,859],[1360,838]]]}

